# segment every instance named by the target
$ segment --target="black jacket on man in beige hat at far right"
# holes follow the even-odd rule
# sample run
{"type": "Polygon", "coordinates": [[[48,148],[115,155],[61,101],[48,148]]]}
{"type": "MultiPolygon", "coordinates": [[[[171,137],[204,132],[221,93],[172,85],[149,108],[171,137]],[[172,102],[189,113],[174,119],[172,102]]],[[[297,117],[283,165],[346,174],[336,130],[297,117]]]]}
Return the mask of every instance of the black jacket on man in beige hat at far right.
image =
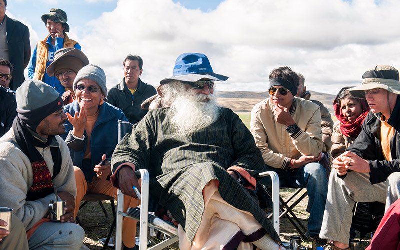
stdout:
{"type": "MultiPolygon", "coordinates": [[[[376,114],[380,117],[381,113],[376,114]]],[[[393,172],[400,171],[400,95],[391,113],[388,124],[395,128],[395,134],[390,140],[390,152],[392,161],[384,158],[380,143],[380,120],[372,111],[369,111],[364,122],[362,131],[357,139],[347,148],[363,159],[369,161],[371,172],[369,181],[371,184],[386,181],[387,177],[393,172]]]]}

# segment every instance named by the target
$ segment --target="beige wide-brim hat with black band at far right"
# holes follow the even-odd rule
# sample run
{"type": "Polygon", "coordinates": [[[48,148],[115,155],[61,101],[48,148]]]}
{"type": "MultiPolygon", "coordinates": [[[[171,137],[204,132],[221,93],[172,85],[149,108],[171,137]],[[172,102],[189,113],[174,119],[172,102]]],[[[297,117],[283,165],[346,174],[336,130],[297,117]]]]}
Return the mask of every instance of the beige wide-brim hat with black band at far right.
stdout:
{"type": "Polygon", "coordinates": [[[365,99],[365,90],[383,88],[394,94],[400,94],[398,70],[389,65],[376,65],[362,75],[362,85],[349,88],[355,98],[365,99]]]}

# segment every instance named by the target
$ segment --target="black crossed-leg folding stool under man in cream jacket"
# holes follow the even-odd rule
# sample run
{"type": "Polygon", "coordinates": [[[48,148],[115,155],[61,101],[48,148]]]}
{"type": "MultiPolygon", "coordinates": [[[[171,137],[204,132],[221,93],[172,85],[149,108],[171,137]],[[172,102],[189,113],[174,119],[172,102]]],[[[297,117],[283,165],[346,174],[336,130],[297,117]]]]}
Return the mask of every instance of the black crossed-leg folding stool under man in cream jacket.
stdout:
{"type": "MultiPolygon", "coordinates": [[[[266,187],[264,185],[261,185],[262,188],[268,193],[268,195],[270,195],[270,190],[269,187],[266,187]]],[[[273,189],[273,188],[272,188],[273,189]]],[[[284,189],[284,188],[281,188],[284,189]]],[[[283,216],[286,217],[289,222],[294,226],[294,228],[296,229],[296,231],[298,232],[298,234],[300,234],[300,236],[303,239],[308,239],[307,235],[308,235],[308,230],[304,227],[304,225],[301,223],[301,221],[298,219],[298,217],[296,216],[296,214],[293,212],[293,209],[296,205],[298,205],[298,203],[300,203],[305,197],[307,197],[308,192],[305,191],[305,193],[301,194],[301,191],[304,188],[299,188],[297,189],[290,197],[288,197],[286,200],[284,200],[281,196],[279,196],[279,210],[281,211],[281,214],[279,215],[279,218],[282,218],[283,216]],[[298,195],[300,195],[298,197],[298,195]],[[294,200],[294,201],[293,201],[294,200]],[[289,205],[289,202],[292,202],[289,205]]],[[[273,202],[273,205],[277,205],[275,204],[275,202],[273,202]]],[[[274,214],[274,213],[273,213],[274,214]]],[[[272,214],[268,216],[268,218],[270,219],[272,217],[272,214]]]]}

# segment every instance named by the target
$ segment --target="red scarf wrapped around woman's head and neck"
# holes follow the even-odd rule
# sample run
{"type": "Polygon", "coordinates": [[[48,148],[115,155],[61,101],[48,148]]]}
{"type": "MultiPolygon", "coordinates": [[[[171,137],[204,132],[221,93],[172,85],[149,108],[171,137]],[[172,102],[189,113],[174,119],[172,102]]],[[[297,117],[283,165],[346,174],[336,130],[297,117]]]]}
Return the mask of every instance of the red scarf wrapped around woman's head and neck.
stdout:
{"type": "MultiPolygon", "coordinates": [[[[343,91],[344,89],[346,88],[342,88],[340,92],[343,91]]],[[[362,122],[364,121],[366,115],[371,109],[366,100],[364,99],[357,99],[357,100],[361,103],[362,113],[360,116],[357,117],[357,119],[353,123],[350,123],[348,119],[344,117],[344,115],[341,113],[340,103],[337,103],[337,97],[333,101],[334,114],[336,115],[336,118],[340,121],[340,131],[347,137],[358,136],[358,134],[361,132],[362,122]]]]}

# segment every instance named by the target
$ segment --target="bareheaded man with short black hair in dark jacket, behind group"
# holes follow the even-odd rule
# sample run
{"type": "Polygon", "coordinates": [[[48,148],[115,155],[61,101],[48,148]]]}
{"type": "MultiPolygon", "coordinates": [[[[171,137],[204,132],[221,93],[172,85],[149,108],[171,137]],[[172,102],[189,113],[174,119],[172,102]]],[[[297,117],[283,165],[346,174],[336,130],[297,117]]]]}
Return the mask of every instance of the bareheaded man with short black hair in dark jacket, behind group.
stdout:
{"type": "Polygon", "coordinates": [[[142,72],[141,57],[131,54],[126,56],[123,61],[124,78],[109,90],[107,96],[108,102],[119,107],[132,124],[139,122],[148,112],[148,108],[141,108],[141,103],[157,94],[153,86],[141,81],[139,76],[142,72]]]}

